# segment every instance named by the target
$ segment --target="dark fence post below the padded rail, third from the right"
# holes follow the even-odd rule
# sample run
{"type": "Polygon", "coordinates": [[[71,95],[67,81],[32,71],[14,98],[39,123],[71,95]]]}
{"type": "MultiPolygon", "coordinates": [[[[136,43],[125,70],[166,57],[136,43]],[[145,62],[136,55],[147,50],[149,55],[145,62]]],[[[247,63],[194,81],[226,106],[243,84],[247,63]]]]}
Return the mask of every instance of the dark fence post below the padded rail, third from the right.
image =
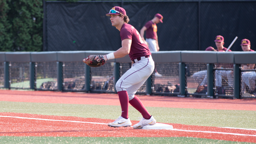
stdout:
{"type": "Polygon", "coordinates": [[[185,63],[179,62],[180,95],[185,95],[185,63]]]}

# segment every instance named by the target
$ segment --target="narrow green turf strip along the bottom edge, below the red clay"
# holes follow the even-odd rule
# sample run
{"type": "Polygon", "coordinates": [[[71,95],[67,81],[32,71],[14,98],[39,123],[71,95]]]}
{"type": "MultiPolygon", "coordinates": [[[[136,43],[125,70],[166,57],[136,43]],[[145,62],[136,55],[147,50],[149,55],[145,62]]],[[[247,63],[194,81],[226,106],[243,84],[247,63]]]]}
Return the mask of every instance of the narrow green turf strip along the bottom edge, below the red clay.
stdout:
{"type": "MultiPolygon", "coordinates": [[[[13,137],[0,136],[1,144],[250,144],[187,137],[13,137]]],[[[251,143],[252,144],[252,143],[251,143]]]]}

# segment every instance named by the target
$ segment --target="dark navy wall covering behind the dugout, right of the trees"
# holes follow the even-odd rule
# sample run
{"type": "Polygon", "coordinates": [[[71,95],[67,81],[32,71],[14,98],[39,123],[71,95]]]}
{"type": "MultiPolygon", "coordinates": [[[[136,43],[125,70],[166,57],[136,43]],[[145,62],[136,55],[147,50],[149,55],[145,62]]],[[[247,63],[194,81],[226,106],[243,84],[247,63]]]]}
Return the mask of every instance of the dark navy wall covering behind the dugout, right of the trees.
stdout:
{"type": "Polygon", "coordinates": [[[113,6],[122,6],[138,31],[156,13],[162,14],[163,24],[157,24],[160,51],[216,48],[217,35],[224,36],[226,48],[238,36],[232,51],[242,50],[244,38],[256,50],[256,1],[46,1],[43,50],[117,50],[120,33],[105,15],[113,6]]]}

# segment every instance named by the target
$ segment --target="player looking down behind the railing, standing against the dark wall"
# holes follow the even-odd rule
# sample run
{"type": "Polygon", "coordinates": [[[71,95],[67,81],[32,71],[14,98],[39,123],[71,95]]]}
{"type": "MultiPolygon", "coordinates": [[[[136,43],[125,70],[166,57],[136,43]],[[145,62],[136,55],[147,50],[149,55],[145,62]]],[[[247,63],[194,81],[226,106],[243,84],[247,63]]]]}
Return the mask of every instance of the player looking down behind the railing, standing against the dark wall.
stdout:
{"type": "Polygon", "coordinates": [[[144,39],[144,32],[146,31],[146,42],[150,51],[159,51],[158,46],[158,27],[157,24],[163,23],[163,16],[159,13],[155,14],[154,18],[148,21],[140,30],[140,36],[144,39]]]}

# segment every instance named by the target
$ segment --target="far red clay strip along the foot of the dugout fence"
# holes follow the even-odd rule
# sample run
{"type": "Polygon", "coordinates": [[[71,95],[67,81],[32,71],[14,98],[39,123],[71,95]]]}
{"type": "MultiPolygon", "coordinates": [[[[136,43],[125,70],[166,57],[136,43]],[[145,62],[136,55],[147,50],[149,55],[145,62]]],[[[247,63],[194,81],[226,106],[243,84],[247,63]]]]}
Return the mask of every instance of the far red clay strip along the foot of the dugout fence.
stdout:
{"type": "MultiPolygon", "coordinates": [[[[145,107],[256,110],[256,99],[138,96],[145,107]]],[[[0,90],[1,101],[120,106],[117,94],[0,90]]]]}

